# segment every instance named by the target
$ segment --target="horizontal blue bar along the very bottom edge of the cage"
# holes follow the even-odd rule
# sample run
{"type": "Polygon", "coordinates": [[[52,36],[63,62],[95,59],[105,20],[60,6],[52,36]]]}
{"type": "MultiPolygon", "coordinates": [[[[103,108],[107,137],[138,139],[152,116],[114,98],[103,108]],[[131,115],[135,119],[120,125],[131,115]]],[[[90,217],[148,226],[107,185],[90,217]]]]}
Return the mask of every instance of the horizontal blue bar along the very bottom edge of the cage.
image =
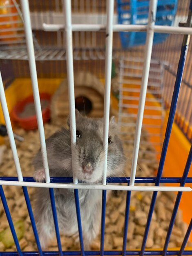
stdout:
{"type": "MultiPolygon", "coordinates": [[[[145,251],[144,255],[149,255],[149,256],[159,256],[162,255],[163,251],[145,251]]],[[[38,256],[38,252],[22,252],[23,256],[38,256]]],[[[44,256],[58,256],[58,252],[43,252],[44,256]]],[[[174,251],[174,250],[168,250],[167,255],[173,256],[173,255],[178,255],[179,251],[174,251]]],[[[81,255],[80,251],[63,251],[63,255],[67,256],[79,256],[81,255]]],[[[97,256],[100,255],[100,251],[85,251],[85,255],[90,255],[90,256],[97,256]]],[[[119,256],[122,255],[122,251],[104,251],[104,255],[111,255],[111,256],[119,256]]],[[[130,256],[137,256],[140,255],[140,251],[126,251],[126,255],[130,256]]],[[[183,255],[192,255],[192,251],[184,251],[183,255]]],[[[18,256],[17,252],[0,252],[0,256],[18,256]]]]}

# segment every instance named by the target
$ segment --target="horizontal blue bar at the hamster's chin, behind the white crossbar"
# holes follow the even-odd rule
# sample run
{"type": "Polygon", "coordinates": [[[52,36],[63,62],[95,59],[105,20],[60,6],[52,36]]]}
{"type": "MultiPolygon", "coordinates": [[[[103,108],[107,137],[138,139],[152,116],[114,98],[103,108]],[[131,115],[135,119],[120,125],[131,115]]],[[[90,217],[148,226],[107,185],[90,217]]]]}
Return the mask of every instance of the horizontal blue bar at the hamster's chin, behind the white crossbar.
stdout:
{"type": "MultiPolygon", "coordinates": [[[[0,180],[18,181],[18,177],[0,177],[0,180]]],[[[25,182],[36,182],[33,177],[23,177],[25,182]]],[[[50,177],[51,183],[73,183],[72,177],[50,177]]],[[[107,183],[127,183],[130,177],[110,177],[107,183]]],[[[136,177],[135,183],[155,183],[156,177],[136,177]]],[[[160,183],[181,183],[182,177],[161,177],[160,183]]],[[[81,183],[81,182],[79,182],[81,183]]],[[[185,183],[192,183],[192,177],[188,177],[185,183]]]]}

